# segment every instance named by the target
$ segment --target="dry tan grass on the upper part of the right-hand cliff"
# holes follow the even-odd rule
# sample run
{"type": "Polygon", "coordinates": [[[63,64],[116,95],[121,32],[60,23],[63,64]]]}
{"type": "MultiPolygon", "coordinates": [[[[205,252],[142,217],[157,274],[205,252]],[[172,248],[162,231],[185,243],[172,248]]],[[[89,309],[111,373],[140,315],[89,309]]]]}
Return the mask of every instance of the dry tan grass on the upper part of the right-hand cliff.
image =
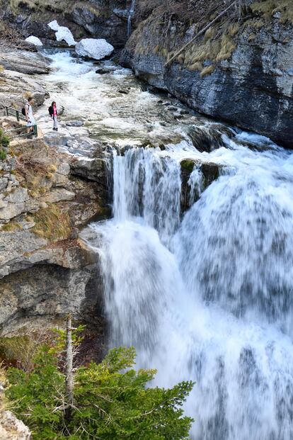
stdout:
{"type": "MultiPolygon", "coordinates": [[[[143,55],[152,52],[166,61],[171,60],[180,46],[185,45],[227,7],[226,2],[216,0],[168,0],[167,3],[168,7],[160,0],[139,1],[137,15],[140,19],[145,18],[145,21],[140,23],[135,41],[132,41],[134,52],[143,55]],[[148,34],[156,35],[157,44],[149,44],[148,34]]],[[[176,61],[205,77],[214,72],[219,62],[229,60],[236,49],[239,35],[245,30],[248,29],[250,34],[249,41],[249,38],[255,38],[260,28],[269,28],[273,18],[283,25],[293,23],[291,0],[260,0],[252,3],[241,0],[241,5],[241,9],[232,7],[204,35],[180,52],[176,61]]]]}

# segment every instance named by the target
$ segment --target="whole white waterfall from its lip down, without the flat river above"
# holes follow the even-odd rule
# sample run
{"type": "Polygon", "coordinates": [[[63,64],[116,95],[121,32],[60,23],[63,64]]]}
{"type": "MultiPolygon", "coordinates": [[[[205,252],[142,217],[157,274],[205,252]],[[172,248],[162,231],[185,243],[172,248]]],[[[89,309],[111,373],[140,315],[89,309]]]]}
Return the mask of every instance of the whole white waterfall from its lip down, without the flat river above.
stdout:
{"type": "MultiPolygon", "coordinates": [[[[210,154],[225,171],[181,224],[176,154],[115,155],[114,218],[93,225],[111,344],[134,344],[159,385],[195,380],[193,439],[289,440],[292,155],[226,147],[210,154]]],[[[195,167],[190,198],[202,179],[195,167]]]]}

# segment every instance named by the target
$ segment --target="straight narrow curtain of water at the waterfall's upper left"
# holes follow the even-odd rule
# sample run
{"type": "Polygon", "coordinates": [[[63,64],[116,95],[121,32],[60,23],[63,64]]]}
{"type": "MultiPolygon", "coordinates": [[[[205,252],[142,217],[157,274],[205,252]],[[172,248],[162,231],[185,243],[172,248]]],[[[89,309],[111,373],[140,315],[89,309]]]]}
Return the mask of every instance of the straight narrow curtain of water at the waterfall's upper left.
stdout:
{"type": "Polygon", "coordinates": [[[180,167],[170,158],[143,148],[114,154],[114,204],[116,220],[142,216],[159,231],[161,241],[171,246],[180,224],[180,167]]]}

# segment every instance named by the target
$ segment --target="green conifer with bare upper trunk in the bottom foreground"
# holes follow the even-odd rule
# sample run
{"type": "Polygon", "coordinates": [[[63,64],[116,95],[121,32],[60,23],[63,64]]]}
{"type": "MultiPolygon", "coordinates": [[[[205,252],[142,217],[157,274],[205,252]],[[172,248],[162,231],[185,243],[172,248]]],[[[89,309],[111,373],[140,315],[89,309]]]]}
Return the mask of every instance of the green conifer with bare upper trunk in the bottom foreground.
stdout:
{"type": "MultiPolygon", "coordinates": [[[[33,431],[34,440],[188,439],[193,420],[183,416],[182,405],[193,383],[146,388],[156,371],[135,371],[134,349],[118,348],[100,364],[76,368],[72,388],[71,362],[66,374],[59,366],[66,334],[61,337],[54,349],[40,346],[33,371],[8,369],[11,385],[6,395],[15,402],[13,411],[33,431]]],[[[69,351],[67,332],[67,361],[69,351]]]]}

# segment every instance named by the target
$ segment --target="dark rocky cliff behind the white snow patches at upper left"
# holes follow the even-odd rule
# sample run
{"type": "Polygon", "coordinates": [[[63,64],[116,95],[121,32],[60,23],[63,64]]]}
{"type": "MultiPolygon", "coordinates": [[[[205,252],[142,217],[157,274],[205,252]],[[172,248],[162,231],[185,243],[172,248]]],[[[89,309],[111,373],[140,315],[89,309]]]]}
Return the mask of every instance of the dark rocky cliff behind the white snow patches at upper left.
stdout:
{"type": "Polygon", "coordinates": [[[52,44],[54,32],[47,23],[57,20],[71,29],[76,40],[105,38],[115,47],[124,46],[127,40],[127,0],[5,0],[0,4],[0,19],[23,37],[35,35],[52,44]]]}

